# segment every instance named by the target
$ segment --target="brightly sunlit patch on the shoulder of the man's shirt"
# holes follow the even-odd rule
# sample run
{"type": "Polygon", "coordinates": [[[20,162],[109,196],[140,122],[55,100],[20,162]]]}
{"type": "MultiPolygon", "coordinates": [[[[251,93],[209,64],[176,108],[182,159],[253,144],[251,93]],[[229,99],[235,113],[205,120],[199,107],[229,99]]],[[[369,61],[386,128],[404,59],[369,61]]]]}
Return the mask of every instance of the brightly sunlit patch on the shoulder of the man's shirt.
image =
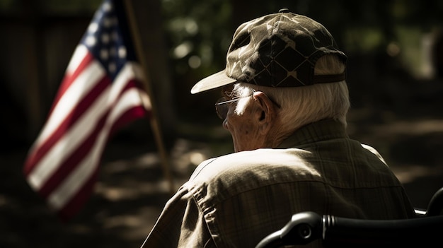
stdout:
{"type": "Polygon", "coordinates": [[[242,191],[319,178],[318,171],[304,159],[307,155],[308,151],[294,148],[263,148],[223,155],[198,165],[188,185],[242,191]]]}

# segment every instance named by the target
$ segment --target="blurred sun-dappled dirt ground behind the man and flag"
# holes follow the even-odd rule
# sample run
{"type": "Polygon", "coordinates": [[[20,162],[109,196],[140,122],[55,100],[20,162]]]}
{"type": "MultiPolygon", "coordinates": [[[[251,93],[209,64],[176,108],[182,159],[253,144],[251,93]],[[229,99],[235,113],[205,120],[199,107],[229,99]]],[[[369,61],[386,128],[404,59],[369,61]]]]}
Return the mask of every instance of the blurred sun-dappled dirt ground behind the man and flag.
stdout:
{"type": "MultiPolygon", "coordinates": [[[[350,136],[379,150],[419,208],[426,208],[432,194],[443,187],[442,107],[425,102],[408,105],[404,112],[365,107],[350,112],[350,136]]],[[[229,135],[219,126],[205,129],[212,140],[188,134],[173,141],[173,191],[201,160],[231,149],[229,135]]],[[[156,148],[115,139],[105,150],[95,193],[73,220],[62,223],[26,184],[26,152],[23,148],[0,154],[2,248],[139,247],[171,196],[156,148]]]]}

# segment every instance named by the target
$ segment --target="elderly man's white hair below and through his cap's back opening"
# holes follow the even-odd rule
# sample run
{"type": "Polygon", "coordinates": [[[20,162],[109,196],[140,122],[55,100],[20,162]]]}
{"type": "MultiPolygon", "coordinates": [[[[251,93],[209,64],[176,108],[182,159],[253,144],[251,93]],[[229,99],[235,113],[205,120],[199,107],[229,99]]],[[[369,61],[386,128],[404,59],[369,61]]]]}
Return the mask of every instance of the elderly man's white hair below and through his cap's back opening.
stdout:
{"type": "MultiPolygon", "coordinates": [[[[335,55],[325,55],[318,59],[316,75],[338,74],[345,71],[343,64],[335,55]]],[[[300,126],[321,119],[335,119],[345,126],[347,111],[350,108],[349,91],[346,81],[337,83],[317,83],[301,87],[264,87],[249,83],[236,83],[232,93],[238,97],[252,95],[253,91],[263,91],[281,108],[278,111],[282,119],[282,130],[294,131],[300,126]]],[[[236,114],[243,114],[251,98],[238,101],[236,114]]]]}

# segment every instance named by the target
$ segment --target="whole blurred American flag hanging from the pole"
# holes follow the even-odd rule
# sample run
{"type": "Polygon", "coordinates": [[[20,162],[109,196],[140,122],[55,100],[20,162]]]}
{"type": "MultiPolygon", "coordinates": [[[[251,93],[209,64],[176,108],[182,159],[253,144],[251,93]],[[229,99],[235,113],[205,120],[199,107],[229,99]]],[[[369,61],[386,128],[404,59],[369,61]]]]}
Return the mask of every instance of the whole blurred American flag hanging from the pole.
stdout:
{"type": "Polygon", "coordinates": [[[91,196],[110,135],[151,114],[125,12],[117,6],[122,1],[117,1],[105,0],[96,11],[25,160],[28,184],[62,220],[91,196]]]}

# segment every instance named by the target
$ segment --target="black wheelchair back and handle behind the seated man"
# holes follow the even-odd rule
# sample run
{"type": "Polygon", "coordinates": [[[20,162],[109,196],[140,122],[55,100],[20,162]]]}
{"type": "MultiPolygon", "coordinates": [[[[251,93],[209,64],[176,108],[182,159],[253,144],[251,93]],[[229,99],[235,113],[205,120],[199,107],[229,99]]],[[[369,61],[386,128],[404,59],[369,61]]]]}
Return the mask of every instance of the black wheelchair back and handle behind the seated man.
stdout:
{"type": "Polygon", "coordinates": [[[301,212],[284,227],[263,238],[255,248],[306,245],[321,240],[323,247],[443,247],[443,187],[416,218],[362,220],[301,212]]]}

